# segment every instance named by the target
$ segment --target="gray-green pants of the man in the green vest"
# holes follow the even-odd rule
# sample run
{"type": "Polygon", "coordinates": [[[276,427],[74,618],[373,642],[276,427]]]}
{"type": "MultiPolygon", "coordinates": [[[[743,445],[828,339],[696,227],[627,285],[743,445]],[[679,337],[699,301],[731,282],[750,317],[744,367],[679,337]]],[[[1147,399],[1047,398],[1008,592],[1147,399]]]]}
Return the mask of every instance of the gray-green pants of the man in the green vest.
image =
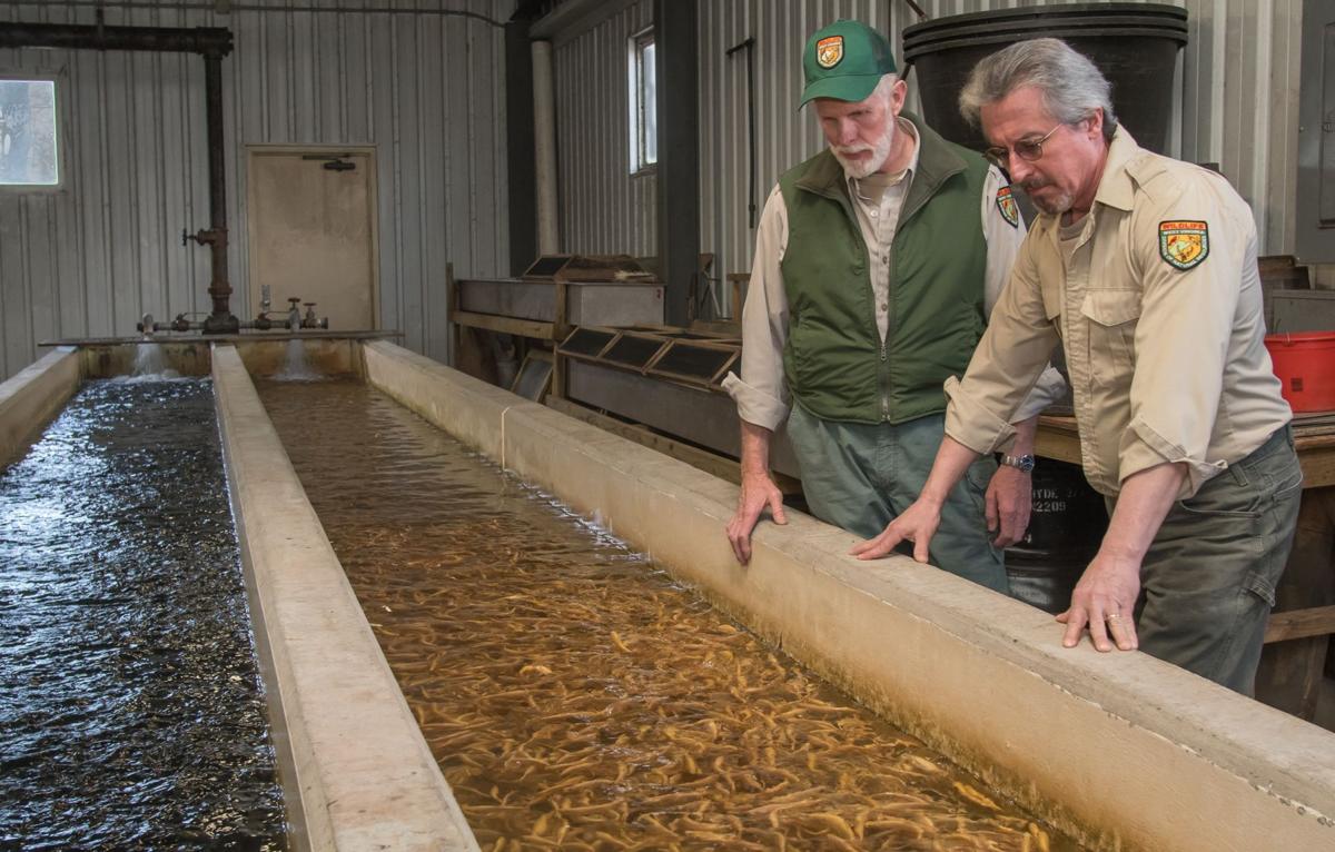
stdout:
{"type": "MultiPolygon", "coordinates": [[[[793,406],[788,418],[806,505],[821,521],[864,538],[878,536],[922,493],[944,435],[944,414],[898,425],[844,423],[793,406]]],[[[952,574],[1005,593],[1005,565],[992,546],[984,506],[996,469],[991,457],[980,458],[956,483],[929,556],[952,574]]],[[[912,554],[912,545],[902,550],[912,554]]]]}

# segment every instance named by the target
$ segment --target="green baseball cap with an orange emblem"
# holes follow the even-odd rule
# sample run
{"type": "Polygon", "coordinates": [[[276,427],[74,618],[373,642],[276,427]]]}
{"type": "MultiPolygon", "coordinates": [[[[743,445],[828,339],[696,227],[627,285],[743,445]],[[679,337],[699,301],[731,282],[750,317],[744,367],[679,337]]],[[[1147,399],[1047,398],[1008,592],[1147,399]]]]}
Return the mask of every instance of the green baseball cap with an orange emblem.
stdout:
{"type": "Polygon", "coordinates": [[[813,97],[865,100],[886,73],[894,72],[894,52],[885,36],[862,21],[840,19],[818,29],[802,51],[806,88],[798,107],[813,97]]]}

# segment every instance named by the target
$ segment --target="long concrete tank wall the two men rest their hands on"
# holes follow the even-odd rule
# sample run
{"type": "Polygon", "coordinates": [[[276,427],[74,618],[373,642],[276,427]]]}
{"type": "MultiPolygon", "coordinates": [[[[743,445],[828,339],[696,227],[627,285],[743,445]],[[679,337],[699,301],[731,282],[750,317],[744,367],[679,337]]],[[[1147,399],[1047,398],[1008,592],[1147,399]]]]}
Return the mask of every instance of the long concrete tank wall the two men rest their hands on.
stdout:
{"type": "Polygon", "coordinates": [[[392,345],[364,357],[372,383],[1088,845],[1335,848],[1335,734],[1145,654],[1065,650],[1047,613],[904,557],[858,562],[796,511],[741,568],[736,486],[392,345]]]}

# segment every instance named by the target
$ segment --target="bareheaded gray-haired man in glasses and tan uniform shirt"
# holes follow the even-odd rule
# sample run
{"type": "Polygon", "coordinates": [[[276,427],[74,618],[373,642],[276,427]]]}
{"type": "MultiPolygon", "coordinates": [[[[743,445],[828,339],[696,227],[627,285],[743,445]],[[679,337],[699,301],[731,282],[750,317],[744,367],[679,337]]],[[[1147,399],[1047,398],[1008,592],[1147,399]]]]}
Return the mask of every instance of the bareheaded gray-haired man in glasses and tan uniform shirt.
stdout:
{"type": "Polygon", "coordinates": [[[984,59],[960,110],[1041,215],[951,405],[926,487],[864,558],[925,558],[944,494],[1065,350],[1089,483],[1112,507],[1063,644],[1140,648],[1251,693],[1302,471],[1264,347],[1256,226],[1228,182],[1140,148],[1056,39],[984,59]]]}

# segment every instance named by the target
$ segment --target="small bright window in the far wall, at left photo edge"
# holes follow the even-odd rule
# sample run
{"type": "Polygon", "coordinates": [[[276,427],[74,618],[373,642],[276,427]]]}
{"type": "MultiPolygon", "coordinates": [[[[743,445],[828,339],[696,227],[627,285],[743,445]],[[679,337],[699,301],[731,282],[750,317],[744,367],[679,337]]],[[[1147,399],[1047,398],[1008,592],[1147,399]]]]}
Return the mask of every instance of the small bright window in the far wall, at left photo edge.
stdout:
{"type": "Polygon", "coordinates": [[[0,186],[57,187],[56,81],[0,79],[0,186]]]}

